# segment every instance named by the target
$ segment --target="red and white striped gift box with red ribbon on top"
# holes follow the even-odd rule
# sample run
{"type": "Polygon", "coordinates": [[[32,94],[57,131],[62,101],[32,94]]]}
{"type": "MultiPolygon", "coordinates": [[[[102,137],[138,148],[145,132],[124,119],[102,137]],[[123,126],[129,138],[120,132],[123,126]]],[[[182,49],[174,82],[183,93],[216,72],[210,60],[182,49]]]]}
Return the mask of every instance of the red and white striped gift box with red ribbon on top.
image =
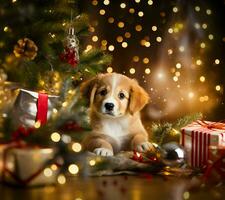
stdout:
{"type": "Polygon", "coordinates": [[[192,167],[207,165],[210,147],[225,147],[225,124],[196,121],[182,128],[181,145],[187,152],[187,162],[192,167]]]}

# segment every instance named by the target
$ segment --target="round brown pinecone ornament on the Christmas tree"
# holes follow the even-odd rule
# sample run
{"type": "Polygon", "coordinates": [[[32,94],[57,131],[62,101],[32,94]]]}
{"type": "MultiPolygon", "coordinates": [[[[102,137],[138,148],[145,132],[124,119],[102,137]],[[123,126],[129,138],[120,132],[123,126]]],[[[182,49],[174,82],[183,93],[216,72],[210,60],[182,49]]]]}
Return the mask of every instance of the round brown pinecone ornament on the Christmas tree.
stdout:
{"type": "Polygon", "coordinates": [[[37,56],[38,47],[29,38],[19,39],[14,46],[13,53],[17,58],[33,60],[37,56]]]}

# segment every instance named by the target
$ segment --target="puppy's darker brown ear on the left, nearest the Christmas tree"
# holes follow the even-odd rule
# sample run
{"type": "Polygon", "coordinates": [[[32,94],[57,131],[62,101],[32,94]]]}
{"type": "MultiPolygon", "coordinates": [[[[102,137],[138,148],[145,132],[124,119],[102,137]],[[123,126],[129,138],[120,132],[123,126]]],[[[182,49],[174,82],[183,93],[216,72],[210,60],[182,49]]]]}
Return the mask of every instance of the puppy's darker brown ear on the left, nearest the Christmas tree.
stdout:
{"type": "Polygon", "coordinates": [[[83,82],[80,86],[80,92],[82,97],[88,100],[90,105],[94,102],[95,93],[97,90],[97,77],[83,82]]]}

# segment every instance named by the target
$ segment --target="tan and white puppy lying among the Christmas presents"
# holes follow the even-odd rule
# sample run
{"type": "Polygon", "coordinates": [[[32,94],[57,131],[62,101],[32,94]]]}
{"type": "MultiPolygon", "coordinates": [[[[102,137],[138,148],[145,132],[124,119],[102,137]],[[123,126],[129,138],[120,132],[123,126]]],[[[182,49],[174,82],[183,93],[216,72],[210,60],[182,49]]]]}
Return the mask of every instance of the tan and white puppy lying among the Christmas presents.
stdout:
{"type": "Polygon", "coordinates": [[[137,81],[117,73],[99,74],[81,85],[81,94],[89,100],[92,127],[85,149],[112,156],[121,150],[153,148],[140,119],[149,96],[137,81]]]}

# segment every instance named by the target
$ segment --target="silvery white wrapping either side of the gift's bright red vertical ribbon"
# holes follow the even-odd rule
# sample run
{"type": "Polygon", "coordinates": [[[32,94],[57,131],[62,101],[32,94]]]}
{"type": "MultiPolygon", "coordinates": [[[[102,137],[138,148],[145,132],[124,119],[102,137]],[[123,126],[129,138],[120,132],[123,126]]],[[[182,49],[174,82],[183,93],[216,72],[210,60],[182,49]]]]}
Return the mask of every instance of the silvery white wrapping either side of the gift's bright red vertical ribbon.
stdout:
{"type": "MultiPolygon", "coordinates": [[[[38,93],[20,89],[13,108],[13,122],[16,127],[33,127],[37,117],[38,93]]],[[[58,96],[48,95],[47,119],[52,114],[58,96]]]]}

